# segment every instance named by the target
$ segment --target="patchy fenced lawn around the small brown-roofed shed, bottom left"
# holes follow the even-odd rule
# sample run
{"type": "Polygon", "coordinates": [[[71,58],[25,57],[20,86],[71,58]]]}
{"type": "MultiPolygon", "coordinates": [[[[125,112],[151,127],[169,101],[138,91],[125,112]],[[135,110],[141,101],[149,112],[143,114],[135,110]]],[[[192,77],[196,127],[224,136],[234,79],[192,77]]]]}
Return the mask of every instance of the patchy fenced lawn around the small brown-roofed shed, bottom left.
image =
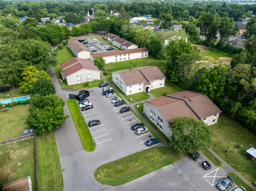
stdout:
{"type": "Polygon", "coordinates": [[[0,191],[4,184],[25,176],[30,176],[36,191],[34,138],[0,146],[0,153],[0,191]]]}

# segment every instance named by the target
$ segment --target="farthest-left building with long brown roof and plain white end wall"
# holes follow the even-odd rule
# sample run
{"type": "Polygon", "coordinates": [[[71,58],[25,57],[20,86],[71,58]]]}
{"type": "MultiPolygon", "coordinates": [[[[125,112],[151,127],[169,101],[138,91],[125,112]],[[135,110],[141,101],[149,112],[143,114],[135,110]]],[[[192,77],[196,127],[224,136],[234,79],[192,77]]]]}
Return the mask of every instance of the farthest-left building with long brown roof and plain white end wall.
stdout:
{"type": "Polygon", "coordinates": [[[81,44],[78,40],[69,40],[68,41],[70,51],[77,57],[77,58],[90,58],[90,51],[85,48],[83,44],[81,44]]]}

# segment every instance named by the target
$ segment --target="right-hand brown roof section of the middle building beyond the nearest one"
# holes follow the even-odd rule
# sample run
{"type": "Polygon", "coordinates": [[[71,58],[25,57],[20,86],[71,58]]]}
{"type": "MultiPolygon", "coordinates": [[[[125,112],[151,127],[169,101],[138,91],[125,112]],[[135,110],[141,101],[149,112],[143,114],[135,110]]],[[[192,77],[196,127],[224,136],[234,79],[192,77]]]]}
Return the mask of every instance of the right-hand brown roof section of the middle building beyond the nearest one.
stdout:
{"type": "Polygon", "coordinates": [[[156,66],[138,67],[132,70],[140,70],[148,81],[166,78],[156,66]]]}

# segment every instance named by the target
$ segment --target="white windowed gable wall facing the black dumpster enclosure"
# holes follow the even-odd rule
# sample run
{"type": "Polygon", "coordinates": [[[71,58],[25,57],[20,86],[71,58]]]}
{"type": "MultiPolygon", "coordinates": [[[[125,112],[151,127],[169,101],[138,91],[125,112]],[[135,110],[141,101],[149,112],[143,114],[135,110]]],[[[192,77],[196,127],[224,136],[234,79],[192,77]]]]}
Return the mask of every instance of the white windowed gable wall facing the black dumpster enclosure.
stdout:
{"type": "Polygon", "coordinates": [[[81,69],[80,71],[77,71],[72,75],[67,76],[67,79],[66,79],[68,85],[80,84],[83,82],[89,82],[93,80],[100,80],[100,71],[81,69]],[[91,73],[91,77],[89,76],[89,73],[91,73]],[[88,74],[88,76],[86,76],[86,74],[88,74]],[[77,75],[79,75],[79,78],[77,77],[77,75]],[[82,75],[82,78],[80,77],[80,75],[82,75]],[[89,78],[91,78],[91,80],[89,78]],[[79,82],[77,81],[78,79],[80,80],[79,82]],[[81,82],[81,79],[82,79],[82,82],[81,82]]]}

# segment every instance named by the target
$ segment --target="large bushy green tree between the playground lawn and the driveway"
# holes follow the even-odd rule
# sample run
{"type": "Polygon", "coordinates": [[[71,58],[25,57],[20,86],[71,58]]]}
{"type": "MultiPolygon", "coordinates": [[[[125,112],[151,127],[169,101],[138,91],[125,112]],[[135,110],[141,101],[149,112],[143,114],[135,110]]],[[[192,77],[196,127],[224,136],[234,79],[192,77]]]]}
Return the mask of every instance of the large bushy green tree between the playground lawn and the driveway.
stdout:
{"type": "Polygon", "coordinates": [[[45,131],[52,131],[58,128],[69,117],[64,115],[63,106],[65,102],[53,94],[41,96],[39,94],[30,99],[30,115],[26,124],[33,128],[35,134],[42,134],[45,131]]]}

